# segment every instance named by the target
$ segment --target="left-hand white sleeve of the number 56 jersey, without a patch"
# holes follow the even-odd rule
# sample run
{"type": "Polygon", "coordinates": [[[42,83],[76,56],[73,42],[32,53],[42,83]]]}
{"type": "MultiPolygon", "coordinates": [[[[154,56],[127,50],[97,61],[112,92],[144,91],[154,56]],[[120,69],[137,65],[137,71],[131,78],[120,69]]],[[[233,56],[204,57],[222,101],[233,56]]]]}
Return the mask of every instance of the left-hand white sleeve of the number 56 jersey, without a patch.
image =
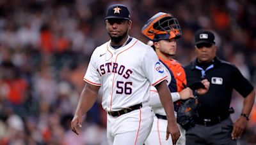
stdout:
{"type": "Polygon", "coordinates": [[[87,67],[86,73],[84,74],[84,81],[95,86],[101,86],[99,72],[97,71],[96,61],[95,61],[95,51],[92,54],[89,65],[87,67]]]}

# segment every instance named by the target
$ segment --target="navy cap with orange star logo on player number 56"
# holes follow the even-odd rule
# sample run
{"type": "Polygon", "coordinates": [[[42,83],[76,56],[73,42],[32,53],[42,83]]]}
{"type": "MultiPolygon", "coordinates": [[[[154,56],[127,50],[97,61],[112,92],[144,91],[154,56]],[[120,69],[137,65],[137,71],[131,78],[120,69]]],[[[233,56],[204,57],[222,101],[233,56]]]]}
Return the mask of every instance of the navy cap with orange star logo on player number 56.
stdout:
{"type": "Polygon", "coordinates": [[[105,19],[109,18],[121,18],[125,20],[130,20],[130,11],[127,6],[123,4],[113,4],[108,7],[108,11],[105,19]]]}

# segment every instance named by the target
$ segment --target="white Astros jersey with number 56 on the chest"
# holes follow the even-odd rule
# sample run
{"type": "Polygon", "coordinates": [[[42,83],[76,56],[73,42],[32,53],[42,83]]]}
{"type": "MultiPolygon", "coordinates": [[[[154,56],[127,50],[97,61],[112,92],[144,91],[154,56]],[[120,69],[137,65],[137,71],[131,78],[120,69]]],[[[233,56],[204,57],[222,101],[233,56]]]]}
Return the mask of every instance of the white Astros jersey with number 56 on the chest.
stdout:
{"type": "Polygon", "coordinates": [[[84,81],[102,86],[102,107],[118,111],[147,102],[150,85],[166,79],[163,66],[150,46],[136,38],[114,49],[110,41],[97,47],[91,57],[84,81]]]}

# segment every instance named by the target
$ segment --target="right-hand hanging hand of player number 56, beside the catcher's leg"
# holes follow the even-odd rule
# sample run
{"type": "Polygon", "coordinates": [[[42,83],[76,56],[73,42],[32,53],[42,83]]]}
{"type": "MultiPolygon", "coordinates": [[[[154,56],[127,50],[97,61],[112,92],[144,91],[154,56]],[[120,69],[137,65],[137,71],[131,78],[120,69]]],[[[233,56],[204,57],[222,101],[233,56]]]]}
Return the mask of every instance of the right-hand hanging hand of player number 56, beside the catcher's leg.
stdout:
{"type": "Polygon", "coordinates": [[[176,121],[168,121],[167,130],[166,130],[166,140],[169,139],[169,134],[172,136],[172,143],[176,144],[180,137],[180,130],[177,126],[176,121]]]}

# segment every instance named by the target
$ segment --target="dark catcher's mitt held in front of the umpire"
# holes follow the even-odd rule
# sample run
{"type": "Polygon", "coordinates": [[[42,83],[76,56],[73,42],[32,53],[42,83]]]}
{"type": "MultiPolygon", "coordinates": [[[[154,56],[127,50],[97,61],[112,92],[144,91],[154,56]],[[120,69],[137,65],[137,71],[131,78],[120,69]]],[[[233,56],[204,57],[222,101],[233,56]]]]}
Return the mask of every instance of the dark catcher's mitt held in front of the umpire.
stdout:
{"type": "Polygon", "coordinates": [[[198,118],[198,112],[196,111],[198,106],[197,99],[188,99],[180,104],[177,112],[177,123],[185,130],[195,127],[195,120],[198,118]]]}

